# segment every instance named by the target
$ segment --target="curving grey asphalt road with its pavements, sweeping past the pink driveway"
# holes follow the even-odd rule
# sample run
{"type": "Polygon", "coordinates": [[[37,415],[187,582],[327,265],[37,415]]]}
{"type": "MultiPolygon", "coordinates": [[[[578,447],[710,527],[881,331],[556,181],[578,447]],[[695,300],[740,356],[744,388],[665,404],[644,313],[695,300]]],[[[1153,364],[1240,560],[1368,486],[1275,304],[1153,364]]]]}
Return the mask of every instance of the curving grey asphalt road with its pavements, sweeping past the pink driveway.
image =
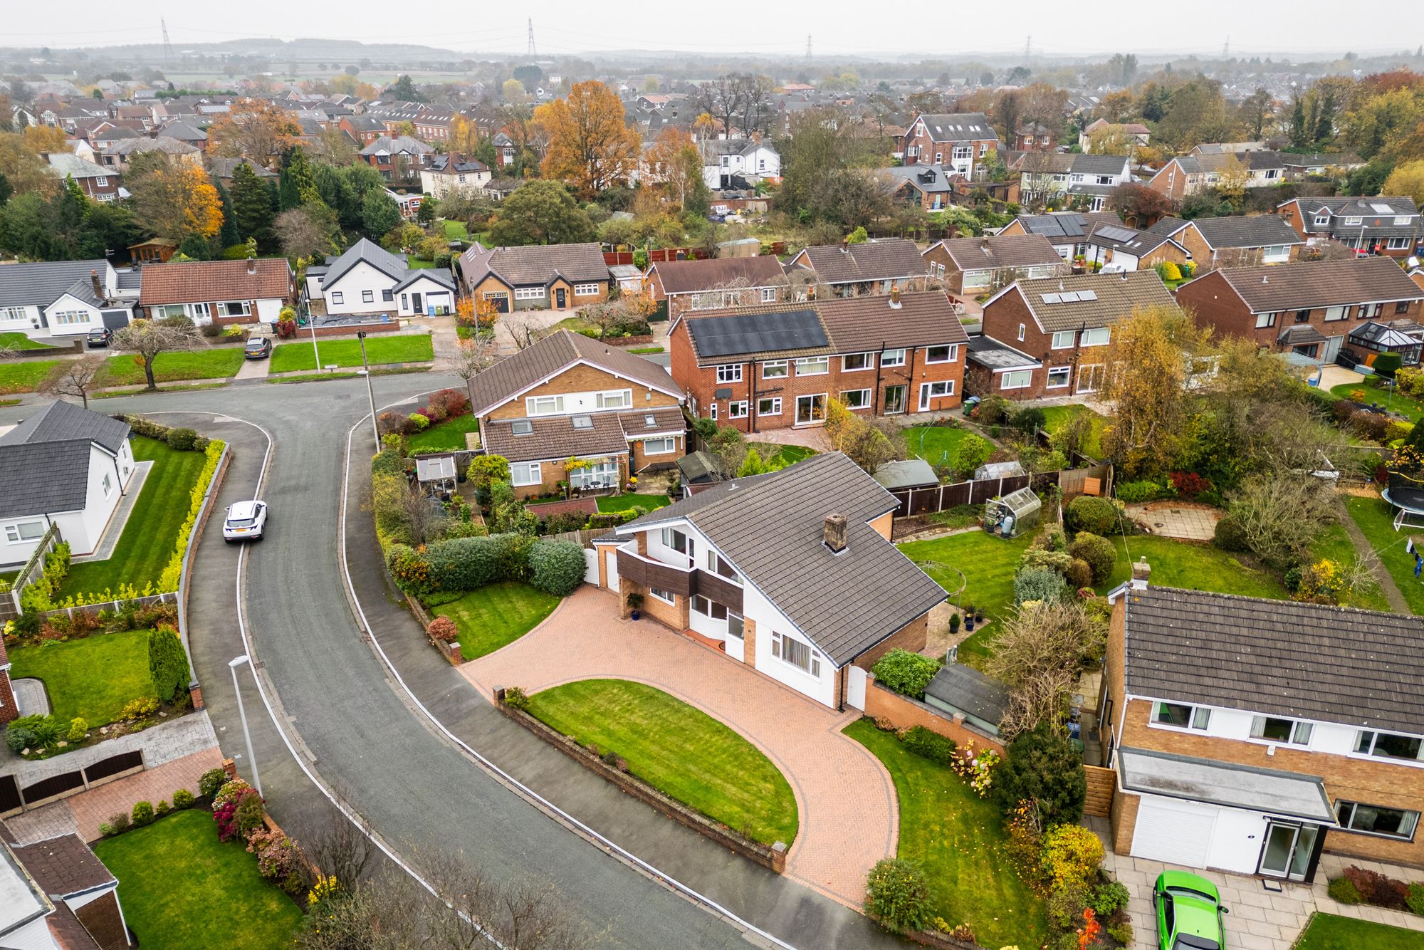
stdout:
{"type": "MultiPolygon", "coordinates": [[[[443,382],[377,377],[377,406],[443,382]]],[[[258,675],[268,685],[282,732],[253,688],[252,671],[242,668],[239,678],[263,792],[283,826],[300,836],[333,813],[326,793],[289,752],[295,745],[322,785],[412,865],[419,867],[422,850],[437,850],[501,880],[550,889],[584,931],[585,946],[661,950],[765,943],[528,802],[434,729],[392,681],[355,621],[337,546],[347,427],[367,412],[363,380],[134,396],[97,402],[94,409],[182,413],[158,417],[228,439],[235,451],[219,499],[224,506],[256,494],[271,434],[262,489],[271,520],[268,537],[246,548],[242,605],[258,675]]],[[[28,412],[24,406],[0,409],[0,422],[28,412]]],[[[359,436],[353,457],[365,476],[360,461],[372,443],[369,430],[359,436]]],[[[463,741],[619,845],[790,944],[897,943],[860,914],[618,795],[504,722],[453,668],[431,665],[436,654],[419,637],[397,635],[413,621],[394,594],[372,580],[379,561],[375,571],[362,574],[372,567],[369,527],[362,534],[369,516],[356,494],[349,508],[352,573],[372,630],[420,701],[463,741]]],[[[195,561],[189,638],[222,749],[246,773],[228,669],[228,659],[245,651],[236,622],[242,548],[225,546],[215,528],[216,523],[205,533],[195,561]]]]}

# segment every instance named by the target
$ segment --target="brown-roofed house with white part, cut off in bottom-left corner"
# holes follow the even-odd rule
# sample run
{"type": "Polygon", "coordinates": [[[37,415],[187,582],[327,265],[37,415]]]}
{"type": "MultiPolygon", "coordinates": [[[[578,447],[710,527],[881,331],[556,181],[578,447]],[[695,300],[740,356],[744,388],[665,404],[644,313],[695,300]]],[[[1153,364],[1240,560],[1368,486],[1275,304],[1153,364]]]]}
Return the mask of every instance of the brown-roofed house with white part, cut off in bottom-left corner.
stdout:
{"type": "Polygon", "coordinates": [[[0,822],[0,894],[4,894],[0,944],[6,947],[120,950],[131,946],[118,903],[118,879],[78,835],[20,845],[0,822]]]}

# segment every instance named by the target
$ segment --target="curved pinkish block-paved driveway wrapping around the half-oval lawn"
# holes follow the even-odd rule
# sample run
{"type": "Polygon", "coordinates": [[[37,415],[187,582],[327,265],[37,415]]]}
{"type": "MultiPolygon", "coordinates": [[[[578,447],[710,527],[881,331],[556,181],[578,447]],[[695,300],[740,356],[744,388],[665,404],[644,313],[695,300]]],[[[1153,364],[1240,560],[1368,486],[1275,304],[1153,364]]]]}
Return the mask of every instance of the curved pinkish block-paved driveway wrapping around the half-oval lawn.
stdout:
{"type": "Polygon", "coordinates": [[[852,907],[864,899],[871,866],[894,856],[894,783],[840,732],[854,709],[829,709],[656,621],[621,620],[615,594],[581,587],[540,627],[460,672],[491,701],[494,687],[533,694],[575,679],[631,679],[725,722],[776,763],[796,795],[800,823],[786,875],[852,907]]]}

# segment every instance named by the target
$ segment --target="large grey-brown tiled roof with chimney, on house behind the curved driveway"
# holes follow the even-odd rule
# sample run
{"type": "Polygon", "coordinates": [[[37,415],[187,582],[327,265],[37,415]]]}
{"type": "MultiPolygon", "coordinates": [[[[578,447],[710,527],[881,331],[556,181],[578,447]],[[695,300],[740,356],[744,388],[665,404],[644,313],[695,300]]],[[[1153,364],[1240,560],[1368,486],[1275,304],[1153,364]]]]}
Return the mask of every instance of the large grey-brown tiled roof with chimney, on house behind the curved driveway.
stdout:
{"type": "Polygon", "coordinates": [[[833,451],[723,481],[618,534],[686,518],[840,667],[944,601],[944,590],[870,527],[896,508],[894,496],[833,451]],[[822,541],[827,514],[847,518],[840,554],[822,541]]]}

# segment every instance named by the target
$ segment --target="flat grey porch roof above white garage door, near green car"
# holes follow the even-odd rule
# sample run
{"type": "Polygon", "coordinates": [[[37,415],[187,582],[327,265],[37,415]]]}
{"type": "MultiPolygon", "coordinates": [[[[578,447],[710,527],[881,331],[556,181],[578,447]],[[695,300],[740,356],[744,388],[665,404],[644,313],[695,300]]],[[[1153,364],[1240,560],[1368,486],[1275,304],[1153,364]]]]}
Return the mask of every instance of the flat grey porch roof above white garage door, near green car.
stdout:
{"type": "Polygon", "coordinates": [[[1336,825],[1326,783],[1317,775],[1259,769],[1196,759],[1171,752],[1119,749],[1118,768],[1126,792],[1165,795],[1336,825]]]}

